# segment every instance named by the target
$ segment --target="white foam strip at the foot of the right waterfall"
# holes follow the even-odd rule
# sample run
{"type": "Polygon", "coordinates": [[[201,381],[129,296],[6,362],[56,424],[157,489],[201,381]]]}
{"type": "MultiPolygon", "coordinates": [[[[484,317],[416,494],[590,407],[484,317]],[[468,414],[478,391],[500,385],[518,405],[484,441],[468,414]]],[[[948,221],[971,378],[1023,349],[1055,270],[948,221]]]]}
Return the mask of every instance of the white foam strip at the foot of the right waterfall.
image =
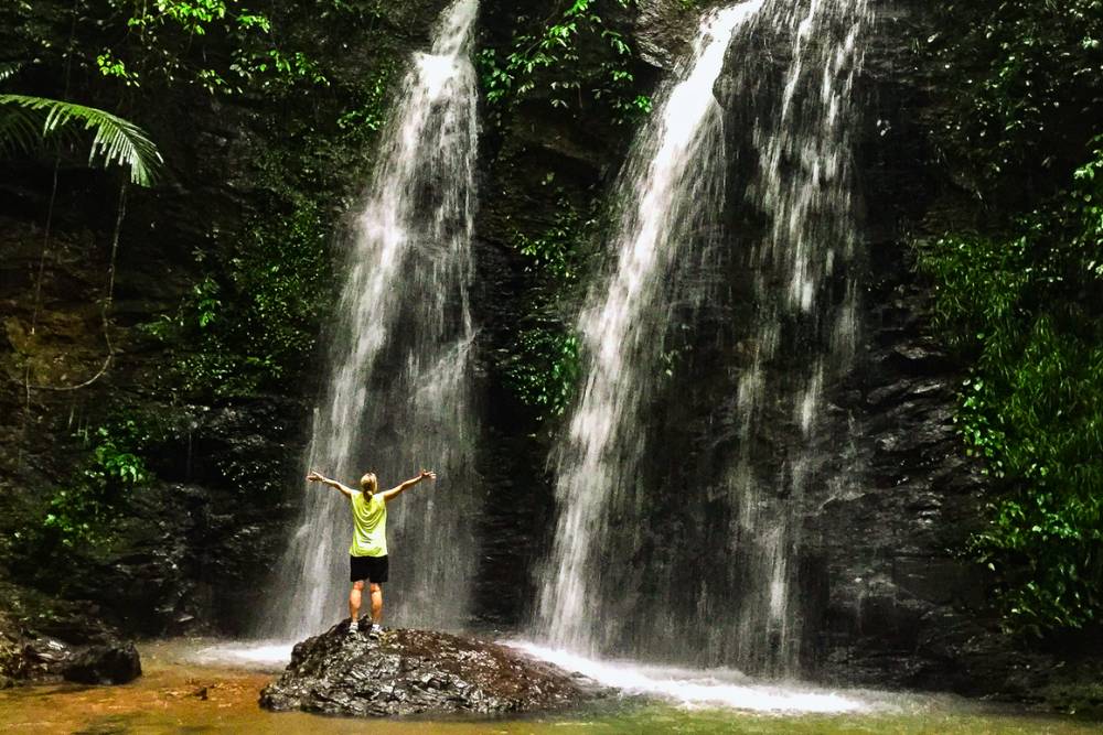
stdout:
{"type": "Polygon", "coordinates": [[[657,696],[686,707],[720,706],[778,714],[838,714],[884,709],[884,704],[807,684],[757,683],[735,669],[685,669],[636,661],[601,661],[526,640],[503,642],[625,694],[657,696]]]}

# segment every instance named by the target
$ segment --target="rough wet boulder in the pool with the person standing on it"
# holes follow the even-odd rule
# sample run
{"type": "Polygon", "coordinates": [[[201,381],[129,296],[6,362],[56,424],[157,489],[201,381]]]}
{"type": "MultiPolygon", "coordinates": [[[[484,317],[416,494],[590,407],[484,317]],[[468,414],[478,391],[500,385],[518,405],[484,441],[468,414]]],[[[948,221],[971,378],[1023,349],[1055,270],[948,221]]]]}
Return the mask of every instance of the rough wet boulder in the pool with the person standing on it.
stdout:
{"type": "Polygon", "coordinates": [[[493,714],[589,695],[579,680],[504,646],[429,630],[387,630],[375,640],[340,623],[295,647],[260,706],[361,717],[493,714]]]}

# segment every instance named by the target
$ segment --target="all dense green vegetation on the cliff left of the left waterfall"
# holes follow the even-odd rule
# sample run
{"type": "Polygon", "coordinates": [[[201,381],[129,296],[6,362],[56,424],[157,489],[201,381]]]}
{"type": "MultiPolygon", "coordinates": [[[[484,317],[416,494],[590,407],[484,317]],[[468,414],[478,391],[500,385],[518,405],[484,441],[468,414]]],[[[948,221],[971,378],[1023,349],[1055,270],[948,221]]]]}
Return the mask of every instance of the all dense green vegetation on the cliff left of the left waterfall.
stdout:
{"type": "MultiPolygon", "coordinates": [[[[332,295],[326,284],[339,210],[362,185],[360,172],[370,165],[406,53],[405,28],[414,23],[378,2],[45,0],[4,3],[0,25],[0,66],[11,69],[0,75],[2,91],[12,93],[6,100],[57,97],[63,111],[92,109],[97,121],[136,123],[164,160],[158,187],[131,193],[128,209],[118,196],[124,175],[110,172],[97,186],[104,194],[76,201],[87,212],[55,213],[51,196],[41,217],[84,217],[89,224],[81,226],[95,228],[89,213],[105,203],[114,209],[118,199],[126,215],[122,248],[179,260],[186,279],[174,287],[182,291],[175,307],[131,327],[144,334],[129,337],[131,344],[160,349],[160,367],[137,386],[143,394],[113,396],[93,409],[90,423],[71,437],[74,469],[44,494],[39,520],[12,540],[31,555],[54,559],[43,549],[61,545],[79,555],[110,545],[133,491],[156,479],[147,457],[179,445],[183,434],[165,426],[188,424],[188,404],[301,393],[332,295]],[[340,39],[319,42],[317,29],[331,25],[357,29],[367,50],[350,54],[340,39]],[[219,118],[225,126],[211,129],[219,118]],[[207,128],[184,125],[182,131],[181,120],[207,128]],[[196,163],[211,161],[231,180],[217,186],[234,198],[195,179],[196,163]],[[194,229],[165,228],[165,192],[175,206],[204,213],[194,229]],[[160,234],[165,229],[173,231],[160,234]]],[[[34,125],[17,132],[23,144],[9,145],[6,156],[31,148],[25,142],[34,125]]],[[[55,192],[56,172],[64,188],[69,172],[87,162],[87,142],[46,140],[40,165],[55,169],[55,192]]],[[[172,207],[167,215],[181,221],[172,207]]],[[[116,229],[116,246],[118,238],[116,229]]],[[[51,257],[49,240],[43,261],[51,257]]],[[[104,334],[117,336],[110,291],[104,302],[104,334]]],[[[111,361],[115,350],[109,342],[96,378],[127,369],[111,361]]],[[[35,388],[68,389],[36,375],[33,354],[24,359],[28,411],[35,388]]]]}

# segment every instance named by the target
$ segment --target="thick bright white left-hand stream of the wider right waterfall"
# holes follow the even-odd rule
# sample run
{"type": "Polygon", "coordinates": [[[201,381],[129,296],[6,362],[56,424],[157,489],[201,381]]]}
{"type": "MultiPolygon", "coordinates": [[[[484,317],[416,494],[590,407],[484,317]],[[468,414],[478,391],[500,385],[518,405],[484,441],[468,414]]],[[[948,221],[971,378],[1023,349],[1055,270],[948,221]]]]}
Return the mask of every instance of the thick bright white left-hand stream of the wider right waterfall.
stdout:
{"type": "Polygon", "coordinates": [[[695,257],[707,250],[722,209],[724,141],[713,86],[731,34],[761,4],[705,18],[692,56],[660,93],[620,174],[617,261],[579,320],[586,382],[555,454],[560,511],[538,609],[542,629],[559,646],[606,650],[625,624],[618,613],[629,610],[617,609],[625,585],[615,542],[633,529],[613,528],[614,515],[631,523],[641,512],[634,480],[644,448],[641,412],[657,387],[675,273],[695,245],[695,257]]]}

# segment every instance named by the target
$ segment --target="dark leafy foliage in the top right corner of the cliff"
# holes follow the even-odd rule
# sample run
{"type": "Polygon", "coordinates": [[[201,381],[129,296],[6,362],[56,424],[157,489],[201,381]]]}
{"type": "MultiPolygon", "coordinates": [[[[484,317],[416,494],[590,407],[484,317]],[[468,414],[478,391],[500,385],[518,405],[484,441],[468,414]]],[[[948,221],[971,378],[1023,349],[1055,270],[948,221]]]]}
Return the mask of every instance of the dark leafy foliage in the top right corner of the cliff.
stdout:
{"type": "Polygon", "coordinates": [[[986,197],[1061,186],[1103,118],[1103,0],[970,0],[938,12],[945,30],[930,47],[954,96],[947,156],[986,197]]]}

